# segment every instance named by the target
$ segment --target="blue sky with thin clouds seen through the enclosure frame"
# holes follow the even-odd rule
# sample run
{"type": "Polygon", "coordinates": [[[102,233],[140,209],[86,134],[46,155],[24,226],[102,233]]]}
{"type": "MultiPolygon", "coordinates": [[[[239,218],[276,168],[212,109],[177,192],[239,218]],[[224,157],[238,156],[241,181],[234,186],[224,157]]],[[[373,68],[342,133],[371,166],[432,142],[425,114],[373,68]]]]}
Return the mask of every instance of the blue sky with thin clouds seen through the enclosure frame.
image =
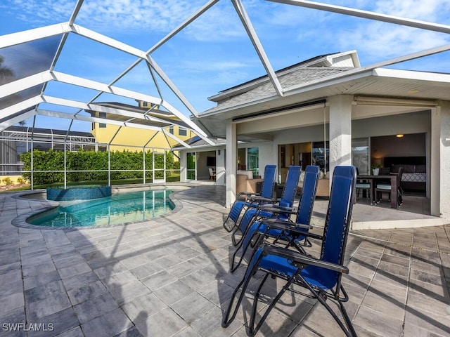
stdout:
{"type": "MultiPolygon", "coordinates": [[[[205,2],[85,0],[75,23],[147,51],[205,2]]],[[[75,3],[75,0],[0,1],[0,35],[67,22],[75,3]]],[[[329,0],[326,3],[444,25],[449,24],[450,18],[450,1],[446,0],[329,0]]],[[[450,43],[449,35],[411,27],[263,0],[243,0],[243,4],[275,70],[316,55],[353,49],[358,51],[361,65],[370,65],[450,43]]],[[[392,67],[450,73],[449,54],[392,67]]],[[[198,112],[215,105],[207,97],[265,74],[229,0],[219,1],[151,56],[198,112]]],[[[70,34],[55,70],[109,83],[134,60],[131,55],[70,34]]],[[[8,62],[13,60],[6,60],[6,66],[8,62]]],[[[158,96],[143,62],[116,85],[158,96]]],[[[190,114],[162,81],[158,85],[169,103],[190,114]]],[[[81,101],[96,94],[60,84],[51,84],[47,89],[47,95],[81,101]]],[[[102,95],[97,101],[112,99],[115,100],[102,95]]],[[[48,108],[56,110],[56,107],[48,108]]],[[[53,128],[66,128],[69,121],[48,121],[44,117],[37,121],[42,127],[49,127],[49,123],[53,128]]],[[[89,131],[89,124],[80,123],[72,128],[89,131]]]]}

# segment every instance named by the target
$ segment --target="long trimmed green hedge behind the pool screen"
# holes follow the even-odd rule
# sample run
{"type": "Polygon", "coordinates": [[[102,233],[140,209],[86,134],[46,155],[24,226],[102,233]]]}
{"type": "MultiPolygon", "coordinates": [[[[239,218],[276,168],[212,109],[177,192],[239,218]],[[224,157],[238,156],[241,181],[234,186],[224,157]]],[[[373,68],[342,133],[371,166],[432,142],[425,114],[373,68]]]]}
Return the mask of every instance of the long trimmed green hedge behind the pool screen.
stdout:
{"type": "MultiPolygon", "coordinates": [[[[89,172],[68,172],[68,182],[86,181],[86,180],[108,180],[108,172],[99,172],[98,170],[108,170],[108,152],[79,151],[67,152],[67,170],[68,171],[89,171],[89,172]]],[[[143,155],[142,152],[131,152],[128,150],[113,151],[110,154],[111,159],[111,179],[134,179],[143,178],[143,155]],[[115,172],[114,170],[136,170],[126,172],[115,172]]],[[[24,163],[23,170],[31,170],[31,152],[20,154],[20,160],[24,163]]],[[[47,152],[33,150],[34,171],[63,171],[64,170],[64,152],[49,150],[47,152]]],[[[179,161],[174,161],[172,152],[166,152],[166,169],[179,169],[179,161]]],[[[153,172],[148,172],[153,168],[153,154],[146,152],[146,179],[153,179],[153,172]]],[[[164,155],[155,154],[155,178],[164,177],[164,155]]],[[[166,177],[169,178],[172,171],[166,171],[166,177]]],[[[44,185],[51,183],[64,183],[63,172],[34,172],[34,184],[44,185]]],[[[30,172],[24,172],[23,177],[31,179],[30,172]]]]}

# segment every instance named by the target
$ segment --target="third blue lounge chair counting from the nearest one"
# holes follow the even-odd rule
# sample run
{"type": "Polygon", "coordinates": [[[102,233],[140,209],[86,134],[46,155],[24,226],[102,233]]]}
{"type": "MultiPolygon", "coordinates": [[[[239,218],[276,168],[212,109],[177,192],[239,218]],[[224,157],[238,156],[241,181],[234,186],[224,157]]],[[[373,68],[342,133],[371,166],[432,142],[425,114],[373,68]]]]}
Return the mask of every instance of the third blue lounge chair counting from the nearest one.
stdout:
{"type": "MultiPolygon", "coordinates": [[[[272,204],[281,206],[284,209],[290,209],[290,211],[292,211],[294,206],[295,194],[297,194],[298,180],[300,179],[301,171],[301,166],[289,166],[288,176],[286,176],[281,199],[277,200],[273,198],[254,197],[252,198],[253,203],[257,204],[258,206],[272,204]]],[[[253,218],[257,215],[271,216],[271,213],[264,213],[264,211],[260,211],[257,207],[247,209],[240,219],[239,225],[236,226],[236,229],[233,231],[233,233],[231,233],[231,240],[233,241],[234,246],[238,245],[239,242],[243,239],[243,235],[245,234],[248,225],[252,223],[253,218]],[[236,239],[236,234],[240,234],[239,239],[236,239]]],[[[290,217],[290,213],[279,213],[278,217],[286,219],[290,217]]]]}

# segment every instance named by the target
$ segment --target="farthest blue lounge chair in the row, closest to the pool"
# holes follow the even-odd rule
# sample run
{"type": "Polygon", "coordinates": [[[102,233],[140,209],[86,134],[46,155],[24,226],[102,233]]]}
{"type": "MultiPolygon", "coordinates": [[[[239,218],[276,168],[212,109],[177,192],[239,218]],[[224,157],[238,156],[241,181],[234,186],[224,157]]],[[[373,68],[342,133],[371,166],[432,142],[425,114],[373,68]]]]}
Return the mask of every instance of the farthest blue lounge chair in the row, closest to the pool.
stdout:
{"type": "Polygon", "coordinates": [[[248,209],[249,207],[257,207],[258,201],[253,201],[252,197],[262,197],[262,198],[272,198],[274,194],[274,185],[276,177],[276,165],[266,165],[264,168],[264,178],[262,180],[262,187],[260,194],[255,192],[240,192],[238,194],[238,199],[234,201],[233,206],[231,206],[228,216],[224,220],[224,228],[227,232],[231,232],[238,223],[240,213],[248,209]],[[228,227],[226,223],[231,219],[233,225],[228,227]]]}

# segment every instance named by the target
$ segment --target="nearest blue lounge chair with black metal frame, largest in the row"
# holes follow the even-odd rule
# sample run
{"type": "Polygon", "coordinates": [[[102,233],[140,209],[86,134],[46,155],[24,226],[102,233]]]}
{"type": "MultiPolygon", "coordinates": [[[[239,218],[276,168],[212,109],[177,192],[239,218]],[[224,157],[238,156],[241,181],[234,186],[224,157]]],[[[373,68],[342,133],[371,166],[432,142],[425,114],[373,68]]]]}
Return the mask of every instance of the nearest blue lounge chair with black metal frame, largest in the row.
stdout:
{"type": "MultiPolygon", "coordinates": [[[[330,192],[330,201],[326,215],[325,227],[323,230],[323,241],[321,246],[320,258],[313,258],[302,254],[293,249],[285,249],[279,246],[272,246],[264,242],[257,247],[255,254],[250,260],[248,268],[242,281],[236,286],[229,307],[222,319],[222,326],[229,326],[236,317],[241,301],[247,295],[246,289],[250,284],[252,275],[257,271],[264,272],[262,282],[259,284],[255,292],[255,299],[250,314],[250,322],[248,324],[248,335],[255,336],[269,312],[274,308],[278,300],[283,296],[285,291],[290,290],[292,284],[300,285],[309,293],[304,295],[319,300],[330,315],[338,322],[342,331],[346,336],[356,336],[353,325],[344,304],[349,298],[342,286],[342,274],[349,272],[348,268],[343,265],[345,246],[349,226],[352,218],[352,209],[355,197],[356,169],[354,166],[336,166],[333,173],[333,183],[330,192]],[[259,313],[261,319],[255,324],[255,316],[257,315],[257,305],[259,296],[261,295],[262,286],[269,277],[278,277],[283,279],[285,284],[281,291],[266,306],[264,313],[259,313]],[[236,294],[242,289],[240,296],[235,305],[236,294]],[[343,319],[333,311],[326,302],[327,299],[334,300],[338,303],[343,319]],[[342,322],[345,321],[345,322],[342,322]]],[[[270,225],[267,225],[269,228],[270,225]]],[[[274,225],[277,227],[277,225],[274,225]]],[[[309,233],[304,232],[304,235],[309,233]]],[[[266,301],[264,302],[266,304],[266,301]]],[[[334,335],[330,331],[330,336],[334,335]]]]}

